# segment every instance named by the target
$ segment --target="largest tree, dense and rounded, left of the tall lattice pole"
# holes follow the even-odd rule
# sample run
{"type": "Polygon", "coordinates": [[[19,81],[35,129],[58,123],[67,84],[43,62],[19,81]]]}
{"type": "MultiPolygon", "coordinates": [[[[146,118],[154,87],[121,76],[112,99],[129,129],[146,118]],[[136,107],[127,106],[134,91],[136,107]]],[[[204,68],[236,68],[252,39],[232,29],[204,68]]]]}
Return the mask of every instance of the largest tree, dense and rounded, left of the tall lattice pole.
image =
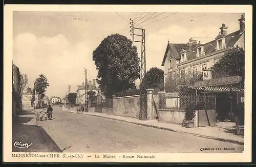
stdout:
{"type": "Polygon", "coordinates": [[[93,61],[98,70],[96,81],[107,97],[116,92],[136,89],[140,61],[137,47],[132,44],[127,37],[115,34],[103,39],[93,51],[93,61]]]}

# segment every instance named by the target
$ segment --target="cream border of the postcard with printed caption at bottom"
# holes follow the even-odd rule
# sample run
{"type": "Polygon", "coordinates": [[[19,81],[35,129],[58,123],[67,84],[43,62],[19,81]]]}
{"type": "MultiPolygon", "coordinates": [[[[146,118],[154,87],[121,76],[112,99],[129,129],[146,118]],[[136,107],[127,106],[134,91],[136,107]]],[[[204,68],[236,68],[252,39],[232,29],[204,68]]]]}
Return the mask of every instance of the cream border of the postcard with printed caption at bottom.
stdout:
{"type": "MultiPolygon", "coordinates": [[[[3,113],[3,160],[4,162],[250,162],[252,124],[252,6],[249,5],[5,5],[4,7],[4,113],[3,113]],[[12,157],[12,30],[13,11],[98,11],[98,12],[204,12],[204,13],[245,13],[245,137],[243,153],[146,153],[155,158],[122,159],[94,158],[94,153],[52,153],[60,158],[12,157]],[[80,155],[80,158],[62,158],[66,155],[80,155]],[[88,157],[91,155],[91,157],[88,157]],[[82,156],[82,157],[81,157],[82,156]]],[[[51,153],[35,153],[48,155],[51,153]]],[[[127,153],[126,153],[127,154],[127,153]]],[[[137,155],[139,153],[131,153],[137,155]]]]}

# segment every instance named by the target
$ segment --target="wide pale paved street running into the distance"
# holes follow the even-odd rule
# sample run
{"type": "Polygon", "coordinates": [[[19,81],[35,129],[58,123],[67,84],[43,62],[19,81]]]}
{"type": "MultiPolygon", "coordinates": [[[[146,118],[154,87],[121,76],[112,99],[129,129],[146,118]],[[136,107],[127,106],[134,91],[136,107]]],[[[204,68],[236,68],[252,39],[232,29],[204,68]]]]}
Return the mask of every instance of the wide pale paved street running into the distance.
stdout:
{"type": "Polygon", "coordinates": [[[237,152],[243,146],[189,134],[74,114],[53,107],[53,120],[41,121],[52,140],[63,152],[237,152]],[[222,151],[200,151],[221,148],[222,151]],[[233,149],[232,151],[223,150],[233,149]]]}

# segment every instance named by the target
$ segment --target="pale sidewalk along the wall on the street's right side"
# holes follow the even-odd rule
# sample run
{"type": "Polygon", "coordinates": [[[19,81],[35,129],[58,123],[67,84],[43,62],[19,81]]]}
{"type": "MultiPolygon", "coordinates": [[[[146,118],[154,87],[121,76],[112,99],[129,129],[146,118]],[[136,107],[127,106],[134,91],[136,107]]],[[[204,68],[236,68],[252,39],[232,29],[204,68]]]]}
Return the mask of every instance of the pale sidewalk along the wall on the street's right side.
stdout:
{"type": "MultiPolygon", "coordinates": [[[[65,110],[65,112],[77,113],[75,110],[72,110],[72,109],[65,110]]],[[[210,139],[218,140],[222,142],[244,145],[244,138],[242,136],[233,134],[231,132],[228,132],[227,129],[217,127],[217,126],[185,128],[179,124],[163,123],[163,122],[158,122],[157,120],[142,121],[136,118],[121,117],[121,116],[108,115],[103,113],[81,113],[81,114],[102,117],[102,118],[107,118],[112,120],[118,120],[122,122],[133,123],[137,125],[175,131],[180,133],[186,133],[186,134],[191,134],[194,136],[199,136],[204,138],[210,138],[210,139]]]]}

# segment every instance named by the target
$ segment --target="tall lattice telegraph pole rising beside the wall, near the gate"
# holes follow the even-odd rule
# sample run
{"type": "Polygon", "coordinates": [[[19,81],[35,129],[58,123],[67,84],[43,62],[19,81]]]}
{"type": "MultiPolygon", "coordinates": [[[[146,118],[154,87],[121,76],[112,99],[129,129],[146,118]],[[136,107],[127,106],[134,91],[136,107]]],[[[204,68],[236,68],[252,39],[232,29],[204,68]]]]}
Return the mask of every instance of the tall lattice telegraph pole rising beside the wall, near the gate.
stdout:
{"type": "Polygon", "coordinates": [[[134,22],[130,18],[131,22],[131,36],[133,37],[133,42],[139,42],[141,43],[141,57],[140,57],[140,120],[146,119],[147,118],[147,107],[146,107],[146,92],[145,92],[145,85],[143,82],[143,79],[146,74],[146,45],[145,45],[145,29],[141,29],[138,27],[134,27],[134,22]],[[140,30],[141,34],[135,34],[135,30],[140,30]],[[141,37],[140,41],[134,40],[134,36],[139,36],[141,37]]]}

